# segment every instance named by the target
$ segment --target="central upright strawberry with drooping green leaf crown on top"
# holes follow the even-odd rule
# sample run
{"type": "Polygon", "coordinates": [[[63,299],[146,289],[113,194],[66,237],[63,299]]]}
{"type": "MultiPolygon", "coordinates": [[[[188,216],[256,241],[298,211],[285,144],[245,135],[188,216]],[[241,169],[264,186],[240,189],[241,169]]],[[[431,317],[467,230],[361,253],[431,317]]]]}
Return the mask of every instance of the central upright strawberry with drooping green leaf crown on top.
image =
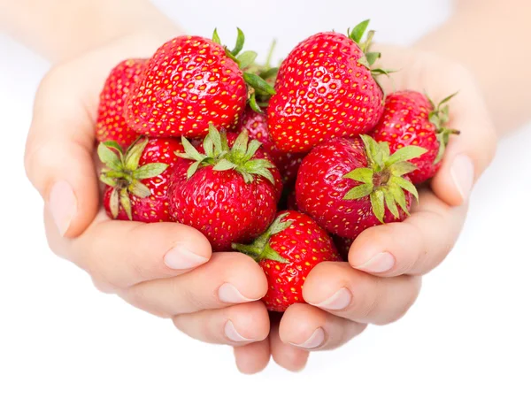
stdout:
{"type": "Polygon", "coordinates": [[[194,148],[182,138],[187,159],[175,166],[170,185],[172,217],[204,233],[212,249],[247,242],[273,221],[282,183],[277,168],[242,134],[219,134],[210,126],[203,145],[194,148]]]}

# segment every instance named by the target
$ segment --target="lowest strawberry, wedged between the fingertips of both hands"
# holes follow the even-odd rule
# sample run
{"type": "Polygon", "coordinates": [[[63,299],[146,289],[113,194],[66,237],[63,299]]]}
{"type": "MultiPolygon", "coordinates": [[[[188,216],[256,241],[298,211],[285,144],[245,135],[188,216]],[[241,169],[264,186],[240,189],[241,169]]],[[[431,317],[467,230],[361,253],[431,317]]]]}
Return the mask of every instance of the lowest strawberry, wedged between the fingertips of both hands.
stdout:
{"type": "Polygon", "coordinates": [[[267,310],[277,312],[304,302],[304,280],[315,265],[340,260],[327,233],[312,218],[292,210],[280,212],[252,244],[233,247],[260,264],[269,285],[262,301],[267,310]]]}

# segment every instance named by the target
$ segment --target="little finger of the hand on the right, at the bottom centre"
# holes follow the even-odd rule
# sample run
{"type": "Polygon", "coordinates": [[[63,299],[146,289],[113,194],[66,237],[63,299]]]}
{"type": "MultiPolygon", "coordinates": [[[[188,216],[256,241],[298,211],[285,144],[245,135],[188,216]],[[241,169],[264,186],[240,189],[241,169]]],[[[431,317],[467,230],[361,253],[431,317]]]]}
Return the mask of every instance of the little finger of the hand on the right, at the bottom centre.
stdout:
{"type": "Polygon", "coordinates": [[[273,314],[269,345],[273,361],[288,371],[302,371],[308,362],[310,352],[281,341],[279,334],[279,315],[273,314]]]}

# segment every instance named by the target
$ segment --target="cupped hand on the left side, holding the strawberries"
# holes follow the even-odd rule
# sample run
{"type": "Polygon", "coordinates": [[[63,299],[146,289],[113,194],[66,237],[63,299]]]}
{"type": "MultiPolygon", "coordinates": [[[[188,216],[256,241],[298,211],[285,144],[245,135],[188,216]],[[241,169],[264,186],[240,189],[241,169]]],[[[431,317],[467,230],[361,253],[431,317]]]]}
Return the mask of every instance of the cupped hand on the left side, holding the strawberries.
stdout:
{"type": "Polygon", "coordinates": [[[160,317],[200,341],[263,341],[267,282],[250,257],[212,255],[202,233],[176,223],[114,221],[100,208],[95,165],[99,91],[127,57],[150,57],[167,39],[123,37],[55,66],[35,98],[27,176],[44,199],[50,248],[89,272],[96,287],[160,317]]]}

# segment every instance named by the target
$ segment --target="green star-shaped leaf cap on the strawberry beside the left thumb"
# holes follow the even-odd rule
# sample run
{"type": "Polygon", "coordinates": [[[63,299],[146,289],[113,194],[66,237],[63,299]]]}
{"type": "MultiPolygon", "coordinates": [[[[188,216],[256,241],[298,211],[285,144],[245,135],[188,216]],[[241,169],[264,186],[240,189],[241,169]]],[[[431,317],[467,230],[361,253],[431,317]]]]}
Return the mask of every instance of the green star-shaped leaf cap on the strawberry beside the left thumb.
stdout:
{"type": "Polygon", "coordinates": [[[100,180],[113,188],[110,203],[113,218],[118,217],[121,205],[127,217],[133,219],[129,194],[141,198],[150,196],[150,188],[142,184],[141,180],[157,177],[168,168],[164,163],[139,167],[140,157],[148,142],[147,138],[139,138],[125,153],[119,144],[113,141],[101,142],[97,147],[97,155],[105,165],[100,180]]]}

